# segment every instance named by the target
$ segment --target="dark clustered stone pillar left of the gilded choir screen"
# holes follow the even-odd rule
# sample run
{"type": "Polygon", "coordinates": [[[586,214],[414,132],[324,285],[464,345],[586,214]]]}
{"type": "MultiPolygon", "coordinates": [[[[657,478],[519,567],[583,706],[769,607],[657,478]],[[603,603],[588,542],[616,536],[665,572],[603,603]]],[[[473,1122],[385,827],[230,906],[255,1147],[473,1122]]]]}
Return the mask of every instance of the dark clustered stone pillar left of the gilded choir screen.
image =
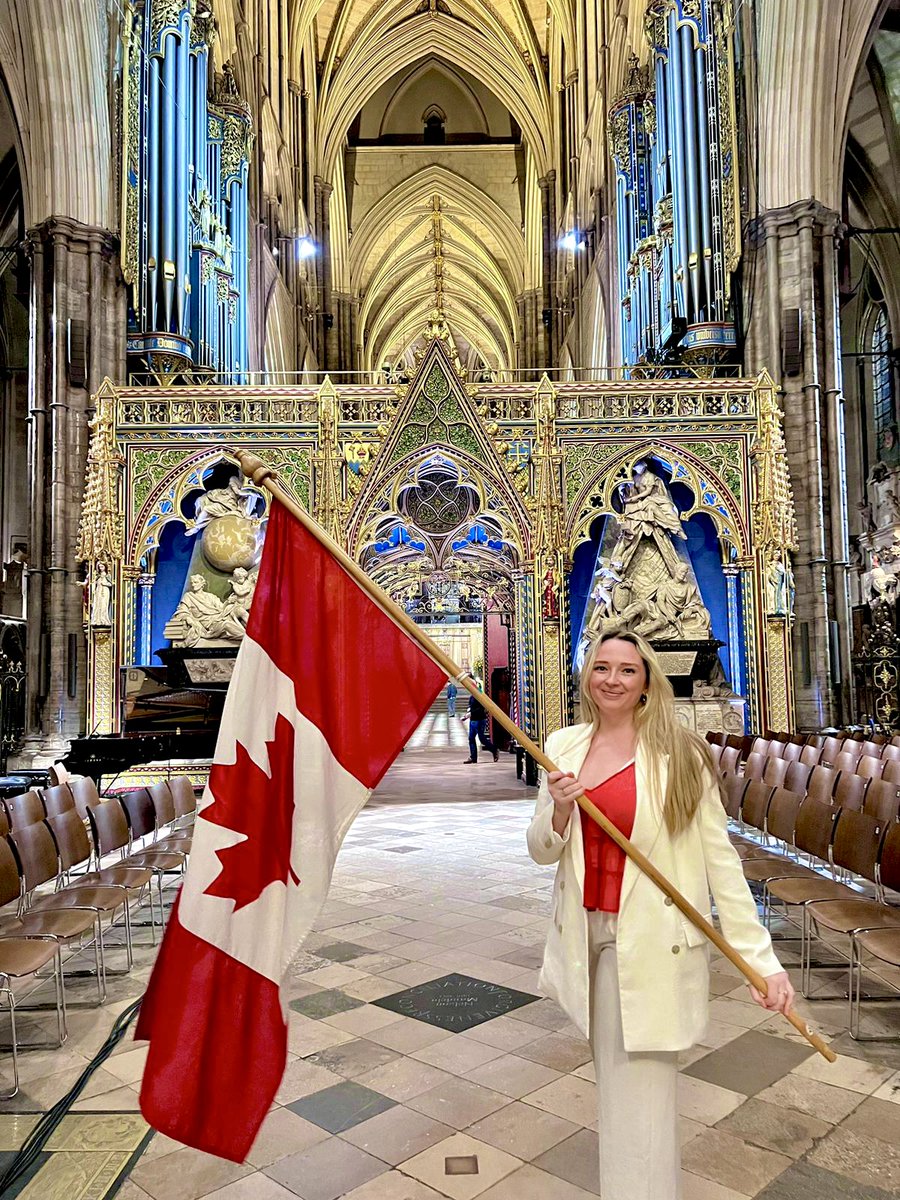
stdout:
{"type": "Polygon", "coordinates": [[[50,217],[29,232],[28,718],[25,757],[52,758],[85,732],[83,595],[74,546],[84,490],[91,395],[125,374],[125,289],[106,229],[50,217]],[[70,325],[80,322],[82,326],[70,325]],[[80,364],[70,332],[84,334],[80,364]],[[72,656],[74,655],[74,661],[72,656]],[[68,694],[74,678],[74,696],[68,694]]]}

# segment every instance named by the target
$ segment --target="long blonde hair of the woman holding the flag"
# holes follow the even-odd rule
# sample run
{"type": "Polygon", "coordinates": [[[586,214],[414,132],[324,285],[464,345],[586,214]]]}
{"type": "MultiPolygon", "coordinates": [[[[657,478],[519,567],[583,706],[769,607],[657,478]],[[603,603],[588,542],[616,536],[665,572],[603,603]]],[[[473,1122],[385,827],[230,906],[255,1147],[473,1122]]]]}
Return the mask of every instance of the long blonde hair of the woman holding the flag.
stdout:
{"type": "Polygon", "coordinates": [[[581,668],[582,720],[593,725],[595,733],[600,728],[600,709],[590,695],[590,676],[600,647],[613,638],[630,642],[644,666],[643,700],[635,709],[637,744],[647,751],[654,791],[659,790],[659,764],[664,755],[668,756],[662,817],[666,828],[674,835],[686,829],[694,820],[703,792],[704,774],[708,772],[715,778],[713,756],[706,742],[678,721],[672,684],[660,666],[656,652],[640,634],[632,634],[628,629],[606,630],[588,650],[581,668]]]}

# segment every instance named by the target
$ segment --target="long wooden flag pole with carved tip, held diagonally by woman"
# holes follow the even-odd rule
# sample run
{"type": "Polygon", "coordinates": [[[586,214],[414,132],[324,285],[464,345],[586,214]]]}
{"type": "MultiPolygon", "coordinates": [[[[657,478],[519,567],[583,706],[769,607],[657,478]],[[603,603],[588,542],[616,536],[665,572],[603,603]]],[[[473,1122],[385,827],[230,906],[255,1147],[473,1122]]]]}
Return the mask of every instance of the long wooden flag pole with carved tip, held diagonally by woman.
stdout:
{"type": "MultiPolygon", "coordinates": [[[[362,590],[378,605],[378,607],[386,613],[386,616],[389,616],[395,624],[400,625],[400,628],[422,648],[428,658],[433,662],[437,662],[448,677],[456,679],[456,682],[460,683],[468,692],[475,696],[479,703],[484,704],[493,719],[499,721],[504,730],[506,730],[506,732],[510,733],[521,746],[524,746],[535,762],[540,763],[540,766],[547,772],[558,769],[556,764],[544,754],[541,748],[535,742],[532,742],[528,734],[520,730],[515,721],[512,721],[488,695],[478,689],[468,672],[461,671],[456,662],[454,662],[454,660],[428,637],[421,626],[416,625],[416,623],[406,612],[403,612],[400,605],[395,604],[395,601],[391,600],[391,598],[380,587],[378,587],[373,580],[370,580],[362,568],[347,553],[344,553],[337,542],[329,538],[319,523],[313,521],[308,512],[305,512],[300,505],[287,494],[287,492],[276,481],[276,474],[271,468],[266,467],[260,458],[247,450],[232,450],[230,452],[240,463],[240,468],[244,474],[251,479],[257,487],[265,487],[280,504],[283,504],[284,508],[288,509],[288,511],[292,512],[296,520],[329,550],[331,554],[334,554],[347,574],[350,575],[356,583],[359,583],[362,590]]],[[[641,851],[604,816],[595,804],[592,804],[587,796],[583,793],[578,796],[577,803],[594,821],[596,821],[604,833],[612,838],[616,845],[619,846],[625,854],[628,854],[635,865],[643,871],[644,875],[653,880],[660,892],[664,892],[671,899],[672,904],[682,913],[684,913],[688,920],[696,925],[697,929],[700,929],[709,938],[715,948],[724,954],[725,958],[738,968],[738,971],[740,971],[744,978],[748,979],[748,982],[764,996],[768,991],[764,977],[757,971],[754,971],[743,955],[738,954],[738,952],[725,941],[719,930],[715,929],[702,916],[702,913],[697,912],[694,905],[691,905],[690,901],[688,901],[680,892],[678,892],[677,888],[670,883],[665,875],[662,875],[653,865],[646,854],[642,854],[641,851]]],[[[829,1062],[836,1061],[838,1056],[830,1046],[823,1042],[817,1033],[812,1033],[800,1016],[796,1013],[787,1013],[786,1015],[791,1025],[793,1025],[793,1027],[802,1033],[810,1045],[815,1046],[824,1058],[829,1062]]]]}

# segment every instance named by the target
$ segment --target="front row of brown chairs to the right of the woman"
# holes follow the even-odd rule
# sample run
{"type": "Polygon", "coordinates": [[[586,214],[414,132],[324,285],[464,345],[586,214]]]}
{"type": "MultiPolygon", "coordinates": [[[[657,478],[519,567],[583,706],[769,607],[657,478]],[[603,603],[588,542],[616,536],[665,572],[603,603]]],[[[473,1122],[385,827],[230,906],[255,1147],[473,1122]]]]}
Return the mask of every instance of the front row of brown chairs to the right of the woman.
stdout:
{"type": "Polygon", "coordinates": [[[804,995],[820,930],[850,936],[850,1031],[860,1037],[862,952],[900,965],[900,905],[888,896],[900,893],[900,822],[739,775],[724,780],[724,800],[740,830],[733,841],[744,875],[762,889],[767,923],[774,904],[786,916],[800,911],[804,995]]]}

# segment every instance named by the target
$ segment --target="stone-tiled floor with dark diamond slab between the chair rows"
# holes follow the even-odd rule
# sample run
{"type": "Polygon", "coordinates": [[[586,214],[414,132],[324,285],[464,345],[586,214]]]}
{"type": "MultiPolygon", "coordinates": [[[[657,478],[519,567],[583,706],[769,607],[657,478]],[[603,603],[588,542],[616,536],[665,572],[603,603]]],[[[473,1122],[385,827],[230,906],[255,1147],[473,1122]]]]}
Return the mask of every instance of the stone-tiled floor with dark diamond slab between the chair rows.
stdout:
{"type": "MultiPolygon", "coordinates": [[[[31,1176],[4,1196],[598,1194],[588,1048],[554,1004],[529,1000],[552,882],[552,870],[524,850],[534,792],[506,755],[463,766],[461,722],[448,731],[445,718],[430,716],[416,742],[350,830],[326,907],[293,967],[289,1062],[247,1163],[210,1158],[148,1129],[137,1112],[145,1050],[126,1039],[31,1176]]],[[[0,1171],[140,995],[154,953],[140,947],[103,1009],[73,1008],[61,1050],[23,1055],[22,1093],[0,1105],[0,1171]]],[[[818,988],[842,983],[838,971],[818,988]]],[[[90,988],[74,982],[72,1001],[89,1001],[90,988]]],[[[844,1002],[802,1002],[840,1051],[829,1066],[781,1018],[750,1003],[720,958],[712,989],[709,1032],[683,1056],[684,1200],[900,1196],[900,1048],[852,1042],[844,1002]]],[[[900,1032],[900,1006],[881,1008],[875,1020],[900,1032]]],[[[23,1020],[23,1036],[43,1024],[23,1020]]]]}

